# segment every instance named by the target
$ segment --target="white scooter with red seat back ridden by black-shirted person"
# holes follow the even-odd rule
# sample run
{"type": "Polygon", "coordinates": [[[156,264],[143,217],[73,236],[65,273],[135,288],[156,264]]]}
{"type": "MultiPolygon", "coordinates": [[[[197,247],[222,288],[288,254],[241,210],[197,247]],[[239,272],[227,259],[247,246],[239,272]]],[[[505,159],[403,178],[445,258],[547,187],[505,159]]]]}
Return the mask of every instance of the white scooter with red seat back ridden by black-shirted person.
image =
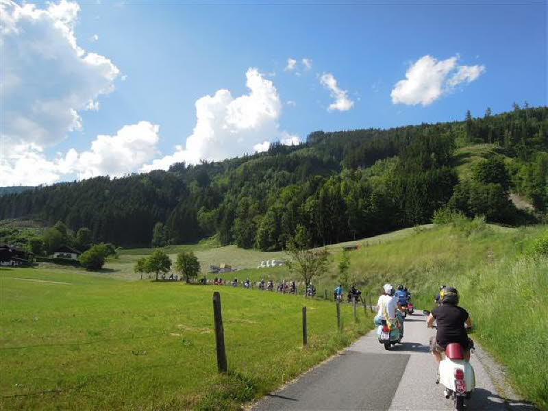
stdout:
{"type": "MultiPolygon", "coordinates": [[[[473,347],[471,348],[473,350],[473,347]]],[[[470,399],[475,388],[474,369],[464,360],[462,345],[448,344],[440,362],[440,380],[445,386],[445,398],[453,399],[455,410],[464,410],[464,399],[470,399]]]]}

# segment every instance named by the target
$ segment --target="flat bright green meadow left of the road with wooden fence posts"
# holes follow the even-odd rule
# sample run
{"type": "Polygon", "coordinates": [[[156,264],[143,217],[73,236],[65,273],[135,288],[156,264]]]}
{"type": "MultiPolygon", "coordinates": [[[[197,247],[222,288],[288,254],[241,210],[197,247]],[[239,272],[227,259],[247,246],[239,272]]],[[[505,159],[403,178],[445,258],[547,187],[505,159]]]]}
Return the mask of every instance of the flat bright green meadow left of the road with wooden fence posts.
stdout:
{"type": "Polygon", "coordinates": [[[371,328],[327,301],[229,287],[0,269],[0,409],[231,409],[371,328]],[[212,292],[230,373],[216,373],[212,292]],[[309,344],[301,346],[301,307],[309,344]]]}

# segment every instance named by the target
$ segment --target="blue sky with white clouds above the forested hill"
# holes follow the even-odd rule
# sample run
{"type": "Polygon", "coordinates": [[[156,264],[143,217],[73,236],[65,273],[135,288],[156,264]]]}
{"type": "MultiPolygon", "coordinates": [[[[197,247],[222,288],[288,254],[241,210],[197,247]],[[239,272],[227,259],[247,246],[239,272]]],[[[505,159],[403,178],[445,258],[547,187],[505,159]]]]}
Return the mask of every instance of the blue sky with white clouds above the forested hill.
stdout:
{"type": "MultiPolygon", "coordinates": [[[[3,4],[4,14],[13,14],[14,6],[3,4]]],[[[28,106],[5,115],[3,185],[219,160],[260,150],[269,140],[295,143],[317,129],[453,121],[466,110],[475,116],[488,106],[494,113],[510,110],[513,101],[547,104],[543,1],[88,1],[48,8],[36,3],[34,12],[49,14],[27,10],[28,21],[11,23],[36,27],[40,21],[42,31],[25,30],[25,42],[21,36],[8,39],[3,53],[3,62],[18,56],[3,69],[4,82],[15,77],[10,70],[25,73],[16,75],[12,95],[2,96],[3,111],[28,106]],[[61,47],[70,36],[56,31],[55,18],[83,53],[70,55],[70,48],[61,47]],[[52,57],[36,51],[46,47],[41,40],[50,34],[60,36],[58,49],[66,54],[54,60],[62,65],[49,64],[52,57]],[[34,69],[18,67],[25,65],[25,53],[34,69]],[[94,58],[82,68],[78,59],[89,53],[110,62],[94,58]],[[288,59],[295,59],[292,69],[288,59]],[[50,86],[16,92],[40,76],[40,67],[67,91],[50,86]],[[246,81],[255,86],[250,90],[246,81]],[[45,99],[55,103],[36,115],[36,101],[45,99]],[[203,103],[198,123],[197,101],[203,103]],[[69,110],[77,120],[60,120],[49,107],[69,110]],[[27,138],[23,123],[43,129],[43,137],[27,138]],[[10,155],[5,142],[12,140],[18,151],[10,155]]]]}

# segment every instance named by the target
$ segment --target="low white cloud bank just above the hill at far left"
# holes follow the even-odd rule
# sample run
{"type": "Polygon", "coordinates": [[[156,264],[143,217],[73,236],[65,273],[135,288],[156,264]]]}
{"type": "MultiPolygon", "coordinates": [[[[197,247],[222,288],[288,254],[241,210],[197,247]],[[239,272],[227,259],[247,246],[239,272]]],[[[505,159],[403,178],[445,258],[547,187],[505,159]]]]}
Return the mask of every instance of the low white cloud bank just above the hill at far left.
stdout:
{"type": "Polygon", "coordinates": [[[79,179],[98,175],[121,177],[152,160],[159,130],[158,125],[148,121],[125,125],[114,136],[97,136],[88,151],[78,153],[70,149],[55,160],[47,160],[36,145],[12,146],[0,160],[0,185],[53,184],[62,176],[74,174],[79,179]]]}

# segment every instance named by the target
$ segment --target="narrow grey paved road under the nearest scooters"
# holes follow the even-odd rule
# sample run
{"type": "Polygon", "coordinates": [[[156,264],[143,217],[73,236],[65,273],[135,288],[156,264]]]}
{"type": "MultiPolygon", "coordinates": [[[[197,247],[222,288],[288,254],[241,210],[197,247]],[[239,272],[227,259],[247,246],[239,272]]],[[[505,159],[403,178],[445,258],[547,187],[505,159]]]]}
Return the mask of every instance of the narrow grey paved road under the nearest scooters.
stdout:
{"type": "MultiPolygon", "coordinates": [[[[452,410],[453,401],[434,383],[436,366],[427,347],[434,330],[419,314],[408,316],[405,327],[403,344],[386,351],[373,330],[340,356],[266,395],[253,409],[452,410]]],[[[507,411],[482,363],[475,356],[471,363],[477,385],[468,409],[507,411]]]]}

